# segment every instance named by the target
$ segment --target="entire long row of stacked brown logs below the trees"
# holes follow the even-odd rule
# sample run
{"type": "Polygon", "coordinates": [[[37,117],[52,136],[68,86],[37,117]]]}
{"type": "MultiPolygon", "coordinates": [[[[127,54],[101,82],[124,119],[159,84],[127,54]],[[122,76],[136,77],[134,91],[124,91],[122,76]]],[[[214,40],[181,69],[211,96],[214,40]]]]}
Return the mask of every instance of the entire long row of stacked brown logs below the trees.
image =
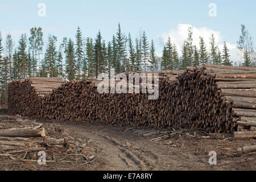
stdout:
{"type": "MultiPolygon", "coordinates": [[[[127,88],[154,87],[154,75],[159,75],[157,100],[148,100],[148,92],[112,93],[112,86],[118,87],[120,80],[109,80],[109,93],[101,94],[97,86],[102,80],[95,78],[66,84],[59,78],[30,78],[9,84],[10,113],[119,126],[201,128],[239,138],[254,137],[256,68],[204,65],[185,71],[136,73],[150,73],[152,85],[140,79],[139,85],[127,82],[127,88]],[[35,84],[40,80],[44,83],[35,84]]],[[[134,73],[124,73],[127,77],[130,74],[134,73]]]]}

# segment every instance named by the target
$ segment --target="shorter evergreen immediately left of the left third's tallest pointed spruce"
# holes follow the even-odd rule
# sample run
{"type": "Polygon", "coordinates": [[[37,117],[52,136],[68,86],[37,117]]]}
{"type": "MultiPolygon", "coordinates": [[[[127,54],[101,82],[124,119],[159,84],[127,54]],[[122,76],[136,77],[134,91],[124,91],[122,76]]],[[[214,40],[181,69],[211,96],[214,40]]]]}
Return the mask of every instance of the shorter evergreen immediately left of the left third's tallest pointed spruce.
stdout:
{"type": "Polygon", "coordinates": [[[66,72],[69,81],[75,80],[75,48],[72,39],[68,40],[66,53],[66,72]]]}

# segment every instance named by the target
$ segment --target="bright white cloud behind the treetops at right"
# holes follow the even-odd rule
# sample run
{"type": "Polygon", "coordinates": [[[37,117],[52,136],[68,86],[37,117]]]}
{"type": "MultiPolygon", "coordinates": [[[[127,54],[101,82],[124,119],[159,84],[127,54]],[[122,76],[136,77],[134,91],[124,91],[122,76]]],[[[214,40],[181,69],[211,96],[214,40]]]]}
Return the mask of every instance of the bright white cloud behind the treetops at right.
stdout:
{"type": "MultiPolygon", "coordinates": [[[[177,46],[177,50],[179,51],[179,53],[181,55],[181,49],[183,46],[183,42],[188,37],[188,28],[189,27],[193,28],[193,35],[192,35],[193,43],[197,47],[199,47],[199,42],[200,42],[199,37],[201,36],[204,38],[207,49],[209,49],[210,36],[213,34],[214,38],[215,38],[216,45],[220,48],[220,51],[222,52],[224,40],[222,39],[221,33],[219,31],[214,31],[207,27],[197,28],[197,27],[193,27],[191,24],[178,24],[178,26],[176,28],[172,28],[170,31],[164,32],[162,35],[159,36],[161,44],[165,44],[168,40],[168,37],[170,36],[171,41],[175,42],[175,44],[177,46]]],[[[230,44],[230,43],[226,43],[226,44],[230,50],[230,55],[231,55],[230,59],[235,60],[237,62],[240,61],[241,54],[240,54],[240,52],[238,52],[236,44],[230,44]]]]}

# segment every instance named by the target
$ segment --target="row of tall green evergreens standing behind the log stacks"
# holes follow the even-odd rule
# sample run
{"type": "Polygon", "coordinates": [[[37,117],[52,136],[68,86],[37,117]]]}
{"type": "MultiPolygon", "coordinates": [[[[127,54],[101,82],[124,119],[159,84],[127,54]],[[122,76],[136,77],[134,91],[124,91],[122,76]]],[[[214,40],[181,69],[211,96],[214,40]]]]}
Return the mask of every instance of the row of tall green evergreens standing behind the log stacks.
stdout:
{"type": "MultiPolygon", "coordinates": [[[[85,77],[98,77],[100,73],[115,73],[156,70],[179,70],[187,66],[204,64],[236,65],[230,60],[226,42],[223,50],[216,45],[214,35],[210,38],[210,48],[200,37],[199,47],[192,39],[193,29],[188,28],[181,55],[176,44],[168,38],[162,56],[155,53],[155,43],[148,40],[143,31],[138,38],[122,32],[118,23],[117,32],[112,40],[106,42],[98,31],[95,39],[83,38],[80,27],[77,27],[75,41],[63,38],[57,45],[57,37],[49,35],[47,43],[43,41],[42,28],[30,29],[30,37],[22,34],[15,47],[10,34],[5,43],[0,32],[0,104],[7,101],[7,84],[9,80],[20,80],[27,77],[62,77],[66,80],[80,80],[85,77]],[[5,56],[3,56],[5,55],[5,56]]],[[[241,35],[237,48],[242,52],[243,63],[239,66],[255,66],[255,52],[252,38],[241,26],[241,35]]]]}

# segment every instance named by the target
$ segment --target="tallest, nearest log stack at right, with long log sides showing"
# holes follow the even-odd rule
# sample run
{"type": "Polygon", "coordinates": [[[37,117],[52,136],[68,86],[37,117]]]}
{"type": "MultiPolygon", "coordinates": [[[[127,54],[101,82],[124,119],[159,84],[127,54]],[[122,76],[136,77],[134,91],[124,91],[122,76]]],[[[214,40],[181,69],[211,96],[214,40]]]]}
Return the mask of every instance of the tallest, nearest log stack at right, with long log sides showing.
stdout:
{"type": "MultiPolygon", "coordinates": [[[[181,108],[177,105],[175,114],[184,117],[180,124],[210,132],[233,133],[237,138],[254,137],[254,124],[249,121],[255,121],[256,114],[255,78],[256,68],[188,67],[176,87],[181,108]]],[[[174,120],[177,122],[179,119],[174,120]]]]}

